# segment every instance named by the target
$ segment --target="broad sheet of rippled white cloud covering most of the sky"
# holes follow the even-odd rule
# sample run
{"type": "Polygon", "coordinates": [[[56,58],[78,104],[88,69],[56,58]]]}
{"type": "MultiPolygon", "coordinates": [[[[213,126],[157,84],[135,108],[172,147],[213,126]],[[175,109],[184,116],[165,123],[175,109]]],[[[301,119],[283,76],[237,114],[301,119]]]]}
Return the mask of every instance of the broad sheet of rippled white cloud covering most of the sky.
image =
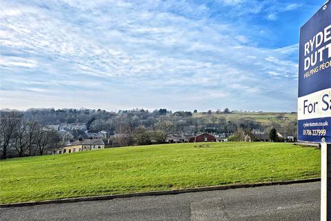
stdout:
{"type": "MultiPolygon", "coordinates": [[[[170,3],[179,6],[180,12],[172,12],[177,8],[161,1],[139,6],[126,1],[56,1],[46,8],[39,1],[17,3],[19,6],[7,2],[0,12],[0,44],[10,56],[1,57],[0,64],[8,70],[8,77],[42,73],[39,80],[44,84],[24,84],[31,93],[108,90],[112,96],[117,93],[116,85],[121,96],[134,90],[144,95],[163,90],[170,97],[180,94],[183,100],[205,93],[226,99],[263,95],[278,90],[277,82],[282,88],[292,86],[270,78],[291,78],[297,73],[296,64],[288,59],[294,46],[261,48],[241,27],[208,20],[208,9],[203,6],[194,11],[185,1],[170,3]],[[25,73],[18,67],[34,72],[25,73]]],[[[20,90],[19,84],[25,80],[21,77],[21,82],[12,83],[17,85],[13,90],[20,90]]]]}

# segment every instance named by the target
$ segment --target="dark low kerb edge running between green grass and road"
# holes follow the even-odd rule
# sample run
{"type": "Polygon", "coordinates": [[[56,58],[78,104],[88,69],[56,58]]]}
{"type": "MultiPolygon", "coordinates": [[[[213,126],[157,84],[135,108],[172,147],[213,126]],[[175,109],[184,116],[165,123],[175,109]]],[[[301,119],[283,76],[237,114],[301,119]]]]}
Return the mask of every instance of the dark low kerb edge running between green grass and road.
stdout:
{"type": "Polygon", "coordinates": [[[207,187],[197,187],[197,188],[190,188],[190,189],[177,189],[177,190],[169,190],[169,191],[150,191],[150,192],[143,192],[143,193],[127,193],[127,194],[117,194],[117,195],[97,195],[97,196],[89,196],[89,197],[81,197],[81,198],[63,198],[63,199],[43,200],[43,201],[35,201],[35,202],[17,202],[17,203],[12,203],[12,204],[0,204],[0,208],[34,206],[34,205],[41,205],[41,204],[83,202],[83,201],[94,201],[94,200],[113,200],[113,199],[117,199],[117,198],[132,198],[132,197],[148,196],[148,195],[172,195],[172,194],[179,194],[179,193],[217,191],[217,190],[226,190],[226,189],[250,188],[250,187],[258,187],[258,186],[277,186],[277,185],[300,184],[300,183],[319,182],[319,181],[321,181],[321,178],[310,178],[310,179],[303,179],[303,180],[285,180],[285,181],[277,181],[277,182],[259,182],[259,183],[255,183],[255,184],[231,184],[231,185],[225,185],[225,186],[207,186],[207,187]]]}

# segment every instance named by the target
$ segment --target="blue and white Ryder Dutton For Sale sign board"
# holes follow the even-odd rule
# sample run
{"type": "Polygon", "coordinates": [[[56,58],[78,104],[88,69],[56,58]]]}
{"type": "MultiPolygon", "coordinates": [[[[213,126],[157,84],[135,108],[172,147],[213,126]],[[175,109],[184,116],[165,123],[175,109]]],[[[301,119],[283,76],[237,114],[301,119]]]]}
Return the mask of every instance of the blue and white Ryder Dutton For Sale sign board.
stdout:
{"type": "Polygon", "coordinates": [[[300,29],[298,140],[331,143],[331,2],[300,29]]]}

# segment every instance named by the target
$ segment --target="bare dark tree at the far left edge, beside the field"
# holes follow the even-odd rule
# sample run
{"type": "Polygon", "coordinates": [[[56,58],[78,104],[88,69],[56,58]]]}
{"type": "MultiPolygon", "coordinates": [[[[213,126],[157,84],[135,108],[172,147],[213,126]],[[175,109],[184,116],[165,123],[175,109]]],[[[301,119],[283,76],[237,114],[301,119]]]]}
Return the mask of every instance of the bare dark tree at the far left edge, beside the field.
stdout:
{"type": "Polygon", "coordinates": [[[11,147],[11,142],[14,133],[16,133],[17,128],[21,122],[22,115],[17,111],[1,111],[0,112],[0,148],[1,148],[1,158],[5,159],[7,157],[8,150],[11,147]]]}

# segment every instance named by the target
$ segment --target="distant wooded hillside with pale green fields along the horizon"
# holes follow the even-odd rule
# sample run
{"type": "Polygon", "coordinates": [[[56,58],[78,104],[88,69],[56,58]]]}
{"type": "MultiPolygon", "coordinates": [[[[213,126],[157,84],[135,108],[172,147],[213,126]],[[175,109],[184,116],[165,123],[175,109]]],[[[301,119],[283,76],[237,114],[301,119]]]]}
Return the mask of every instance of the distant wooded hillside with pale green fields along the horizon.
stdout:
{"type": "Polygon", "coordinates": [[[128,133],[139,126],[148,130],[162,129],[162,122],[170,122],[172,126],[169,133],[197,134],[205,131],[205,128],[214,128],[216,133],[235,133],[239,127],[246,131],[261,128],[268,132],[274,127],[279,133],[285,133],[286,128],[288,134],[297,134],[297,113],[241,112],[229,111],[228,108],[225,111],[194,112],[172,112],[165,108],[117,112],[85,108],[32,108],[23,111],[23,115],[27,121],[36,121],[45,126],[86,124],[86,128],[92,132],[128,133]]]}

